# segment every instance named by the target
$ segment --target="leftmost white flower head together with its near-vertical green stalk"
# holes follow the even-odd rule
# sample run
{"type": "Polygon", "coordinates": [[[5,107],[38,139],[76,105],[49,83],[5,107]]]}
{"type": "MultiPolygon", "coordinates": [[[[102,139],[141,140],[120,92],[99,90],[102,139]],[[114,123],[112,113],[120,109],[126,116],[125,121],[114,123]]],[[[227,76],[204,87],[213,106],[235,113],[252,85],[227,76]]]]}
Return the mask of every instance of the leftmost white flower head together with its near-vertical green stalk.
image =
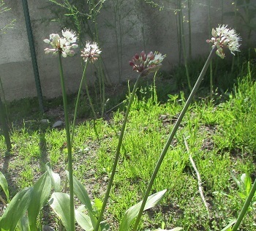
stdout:
{"type": "Polygon", "coordinates": [[[69,118],[67,112],[67,94],[64,83],[63,67],[61,62],[61,56],[66,58],[67,56],[74,56],[75,52],[73,48],[78,48],[76,42],[76,34],[74,31],[64,29],[62,31],[63,37],[59,34],[50,34],[50,39],[44,39],[44,42],[51,45],[52,48],[45,48],[45,53],[52,53],[53,55],[59,55],[59,72],[61,77],[61,91],[63,97],[64,106],[64,118],[65,129],[67,136],[67,159],[69,170],[69,206],[70,206],[70,224],[71,231],[75,231],[75,208],[74,208],[74,184],[73,184],[73,169],[72,169],[72,143],[70,139],[69,131],[69,118]]]}

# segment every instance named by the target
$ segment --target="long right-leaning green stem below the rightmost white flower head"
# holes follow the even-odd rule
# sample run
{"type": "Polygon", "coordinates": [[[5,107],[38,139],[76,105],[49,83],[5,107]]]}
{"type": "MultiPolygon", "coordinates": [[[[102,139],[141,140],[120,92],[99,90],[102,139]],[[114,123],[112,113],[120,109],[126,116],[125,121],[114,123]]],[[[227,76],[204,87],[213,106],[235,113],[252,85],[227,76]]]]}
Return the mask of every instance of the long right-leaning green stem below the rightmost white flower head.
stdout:
{"type": "Polygon", "coordinates": [[[136,221],[135,221],[135,225],[134,225],[134,227],[133,227],[133,231],[137,230],[138,224],[139,224],[139,222],[140,222],[140,218],[141,218],[141,216],[142,216],[143,210],[144,210],[145,205],[146,205],[146,201],[147,201],[147,199],[148,199],[149,193],[151,192],[151,188],[152,188],[152,186],[153,186],[153,183],[154,183],[154,180],[155,180],[155,178],[156,178],[156,176],[157,176],[157,173],[158,173],[158,171],[159,171],[159,168],[160,168],[160,166],[161,166],[161,164],[162,164],[162,161],[163,161],[163,159],[165,158],[165,154],[167,153],[167,150],[168,150],[168,148],[169,148],[169,146],[170,146],[170,143],[171,143],[172,140],[173,140],[174,135],[176,135],[176,132],[177,132],[177,130],[178,130],[178,126],[181,124],[181,121],[182,121],[182,119],[183,119],[185,113],[187,112],[187,109],[188,109],[190,103],[192,102],[192,100],[193,100],[193,98],[194,98],[194,96],[195,96],[195,93],[196,93],[198,87],[200,86],[200,83],[201,83],[202,80],[203,80],[204,75],[206,75],[206,70],[208,69],[208,66],[209,66],[209,64],[210,64],[211,58],[214,56],[215,51],[216,51],[216,48],[214,47],[214,48],[211,50],[211,53],[209,54],[209,56],[208,56],[208,58],[207,58],[207,60],[206,60],[206,64],[203,66],[203,69],[202,69],[202,71],[200,72],[199,77],[197,78],[197,82],[195,83],[195,86],[194,86],[194,88],[192,89],[192,91],[191,91],[191,93],[190,93],[190,95],[189,95],[189,98],[187,99],[187,102],[185,103],[183,109],[181,110],[181,114],[178,116],[178,119],[177,119],[177,121],[176,121],[176,124],[173,126],[173,130],[172,130],[172,132],[170,133],[170,136],[169,136],[169,138],[168,138],[168,140],[167,140],[167,143],[165,144],[164,149],[162,150],[162,154],[160,154],[160,156],[159,156],[159,159],[158,159],[158,161],[157,161],[157,165],[156,165],[156,167],[154,168],[154,173],[151,175],[151,179],[150,179],[150,181],[149,181],[149,183],[148,183],[148,187],[147,187],[147,189],[146,189],[146,193],[144,194],[143,201],[142,201],[142,204],[141,204],[141,207],[140,207],[140,211],[139,211],[139,213],[138,213],[137,219],[136,219],[136,221]]]}

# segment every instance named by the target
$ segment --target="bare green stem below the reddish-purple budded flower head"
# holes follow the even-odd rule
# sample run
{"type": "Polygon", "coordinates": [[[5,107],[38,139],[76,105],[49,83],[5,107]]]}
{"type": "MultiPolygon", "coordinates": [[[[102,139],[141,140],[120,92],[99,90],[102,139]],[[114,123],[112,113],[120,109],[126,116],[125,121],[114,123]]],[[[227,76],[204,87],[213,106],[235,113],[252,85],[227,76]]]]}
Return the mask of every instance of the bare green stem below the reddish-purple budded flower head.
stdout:
{"type": "Polygon", "coordinates": [[[95,227],[95,231],[99,230],[99,223],[100,223],[100,221],[102,221],[103,213],[105,211],[105,207],[106,207],[107,202],[108,202],[110,189],[111,189],[111,186],[112,186],[112,183],[113,183],[113,178],[114,178],[115,173],[116,173],[116,166],[118,164],[118,159],[119,159],[119,156],[120,156],[121,144],[122,144],[123,137],[124,137],[124,131],[125,131],[125,128],[126,128],[126,125],[127,125],[127,118],[128,118],[128,115],[129,115],[129,110],[131,108],[133,99],[135,97],[135,92],[136,92],[136,89],[138,87],[138,82],[140,80],[140,77],[141,77],[141,75],[138,76],[138,78],[135,82],[135,86],[133,86],[132,94],[129,97],[129,103],[128,103],[128,106],[127,106],[127,111],[126,111],[125,116],[124,116],[124,123],[123,123],[123,126],[121,127],[121,133],[120,133],[120,136],[119,136],[119,139],[118,139],[118,145],[117,145],[117,148],[116,148],[116,156],[115,156],[115,160],[114,160],[114,164],[113,164],[113,168],[112,168],[112,173],[110,175],[110,180],[108,182],[108,189],[107,189],[107,192],[105,194],[105,198],[104,198],[103,205],[102,205],[102,210],[99,213],[99,219],[98,219],[97,225],[95,227]]]}

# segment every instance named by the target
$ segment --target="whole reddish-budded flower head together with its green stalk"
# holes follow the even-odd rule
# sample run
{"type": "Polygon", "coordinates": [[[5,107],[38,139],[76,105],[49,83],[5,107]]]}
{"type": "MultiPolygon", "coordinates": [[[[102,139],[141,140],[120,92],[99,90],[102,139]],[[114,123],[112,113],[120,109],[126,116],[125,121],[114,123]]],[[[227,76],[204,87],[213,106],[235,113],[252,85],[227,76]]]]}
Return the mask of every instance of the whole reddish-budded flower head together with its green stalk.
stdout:
{"type": "Polygon", "coordinates": [[[107,189],[107,192],[105,194],[102,209],[99,213],[99,218],[98,218],[98,221],[97,221],[97,225],[95,227],[95,231],[99,230],[99,224],[102,221],[103,214],[104,214],[104,211],[105,211],[105,207],[106,207],[107,202],[108,202],[110,189],[111,189],[111,186],[112,186],[112,183],[113,183],[113,178],[114,178],[115,173],[116,173],[116,166],[118,164],[118,159],[119,159],[119,156],[120,156],[121,143],[123,141],[124,131],[125,131],[125,128],[126,128],[126,125],[127,125],[127,118],[128,118],[128,115],[129,115],[129,110],[131,108],[133,99],[135,97],[135,93],[136,93],[136,90],[137,90],[137,87],[138,87],[139,80],[140,80],[141,77],[144,77],[144,76],[148,75],[151,72],[156,72],[161,67],[161,65],[162,65],[161,62],[164,58],[165,58],[165,56],[162,56],[161,53],[150,52],[146,56],[146,53],[144,51],[142,51],[140,53],[140,56],[138,54],[136,54],[132,58],[132,61],[129,62],[129,65],[132,66],[132,69],[135,70],[136,72],[139,72],[140,75],[138,76],[138,78],[135,82],[135,86],[133,86],[131,96],[129,96],[129,103],[128,103],[128,106],[127,106],[127,111],[126,111],[125,116],[124,116],[124,123],[123,123],[123,126],[121,127],[121,133],[120,133],[120,136],[119,136],[119,139],[118,139],[118,145],[117,145],[117,148],[116,148],[116,156],[115,156],[115,160],[114,160],[114,163],[113,163],[112,173],[110,175],[110,180],[108,182],[108,189],[107,189]]]}

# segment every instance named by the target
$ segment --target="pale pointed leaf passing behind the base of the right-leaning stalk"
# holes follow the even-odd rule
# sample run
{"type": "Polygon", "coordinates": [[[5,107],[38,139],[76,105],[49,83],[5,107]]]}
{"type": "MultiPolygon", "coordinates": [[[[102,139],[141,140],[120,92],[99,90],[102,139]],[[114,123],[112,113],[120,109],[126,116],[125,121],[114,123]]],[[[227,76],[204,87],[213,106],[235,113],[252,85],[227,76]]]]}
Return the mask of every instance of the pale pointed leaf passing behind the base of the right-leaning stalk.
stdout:
{"type": "MultiPolygon", "coordinates": [[[[166,192],[165,190],[162,190],[161,192],[157,192],[151,196],[148,197],[148,200],[146,202],[144,211],[146,211],[148,208],[152,208],[154,207],[154,205],[157,205],[157,203],[162,199],[162,197],[164,196],[166,192]]],[[[135,219],[136,216],[138,216],[138,213],[140,211],[140,205],[141,205],[141,201],[136,204],[133,205],[131,208],[129,208],[125,213],[124,213],[124,217],[121,221],[119,230],[120,231],[128,231],[129,230],[129,226],[132,223],[132,220],[135,219]]]]}

